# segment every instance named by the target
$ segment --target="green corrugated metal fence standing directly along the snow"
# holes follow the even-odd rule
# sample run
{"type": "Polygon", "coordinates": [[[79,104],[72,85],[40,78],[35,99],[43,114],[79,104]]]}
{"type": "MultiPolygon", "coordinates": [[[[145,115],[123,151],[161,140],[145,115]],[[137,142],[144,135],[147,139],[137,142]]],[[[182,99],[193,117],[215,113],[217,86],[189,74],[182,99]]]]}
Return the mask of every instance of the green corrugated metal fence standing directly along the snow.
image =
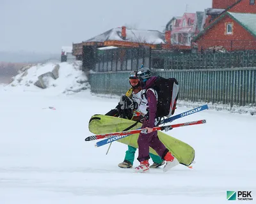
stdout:
{"type": "MultiPolygon", "coordinates": [[[[185,101],[256,106],[256,68],[154,70],[154,75],[177,78],[179,99],[185,101]]],[[[129,89],[128,76],[127,71],[91,73],[91,90],[120,95],[129,89]]]]}

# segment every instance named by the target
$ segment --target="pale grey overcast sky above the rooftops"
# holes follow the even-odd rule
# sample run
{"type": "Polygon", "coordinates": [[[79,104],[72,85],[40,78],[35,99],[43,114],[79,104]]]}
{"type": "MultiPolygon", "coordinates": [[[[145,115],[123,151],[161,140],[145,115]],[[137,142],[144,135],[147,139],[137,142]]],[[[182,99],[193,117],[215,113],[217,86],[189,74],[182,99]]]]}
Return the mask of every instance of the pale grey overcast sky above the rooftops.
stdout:
{"type": "Polygon", "coordinates": [[[0,0],[0,51],[60,53],[61,46],[122,25],[163,31],[186,4],[194,13],[212,0],[0,0]]]}

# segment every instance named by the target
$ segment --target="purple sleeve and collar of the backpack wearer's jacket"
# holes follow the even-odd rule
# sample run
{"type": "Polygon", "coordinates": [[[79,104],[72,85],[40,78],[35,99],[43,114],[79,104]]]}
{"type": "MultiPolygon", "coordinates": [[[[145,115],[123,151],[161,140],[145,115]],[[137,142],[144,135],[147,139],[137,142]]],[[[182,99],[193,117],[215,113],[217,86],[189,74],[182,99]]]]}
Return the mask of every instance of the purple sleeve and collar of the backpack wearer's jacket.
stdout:
{"type": "MultiPolygon", "coordinates": [[[[146,84],[142,86],[142,89],[150,89],[157,77],[151,77],[147,80],[146,84]]],[[[154,128],[155,119],[156,119],[156,111],[157,111],[157,98],[151,90],[147,91],[147,101],[148,101],[148,120],[147,127],[154,128]]]]}

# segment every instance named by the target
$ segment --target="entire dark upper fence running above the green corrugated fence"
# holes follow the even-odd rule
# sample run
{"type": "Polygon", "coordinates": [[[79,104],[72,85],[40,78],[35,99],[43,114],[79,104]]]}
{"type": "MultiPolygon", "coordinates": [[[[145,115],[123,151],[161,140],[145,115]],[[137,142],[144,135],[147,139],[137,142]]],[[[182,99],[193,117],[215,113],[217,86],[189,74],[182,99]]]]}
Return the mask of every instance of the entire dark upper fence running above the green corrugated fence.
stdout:
{"type": "Polygon", "coordinates": [[[187,53],[175,50],[83,47],[83,70],[131,71],[141,64],[154,69],[221,69],[256,66],[256,50],[215,53],[187,53]]]}

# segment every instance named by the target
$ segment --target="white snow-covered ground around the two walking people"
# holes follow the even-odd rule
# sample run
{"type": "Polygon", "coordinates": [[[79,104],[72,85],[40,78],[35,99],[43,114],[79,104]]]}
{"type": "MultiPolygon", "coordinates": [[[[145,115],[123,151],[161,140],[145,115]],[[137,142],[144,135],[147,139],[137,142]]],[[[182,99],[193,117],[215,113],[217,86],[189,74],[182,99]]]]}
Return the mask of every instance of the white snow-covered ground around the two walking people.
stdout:
{"type": "MultiPolygon", "coordinates": [[[[207,124],[168,133],[195,149],[193,169],[137,174],[117,166],[126,145],[114,142],[106,155],[108,145],[95,148],[95,142],[84,142],[93,135],[90,117],[108,112],[118,98],[99,98],[89,90],[69,95],[68,87],[80,86],[79,73],[70,73],[68,64],[61,68],[60,79],[49,89],[29,82],[36,80],[40,66],[22,80],[17,76],[15,87],[0,87],[1,204],[251,202],[227,201],[226,191],[252,191],[255,202],[256,116],[205,110],[176,120],[173,124],[207,119],[207,124]]],[[[189,109],[178,103],[176,113],[189,109]]]]}

